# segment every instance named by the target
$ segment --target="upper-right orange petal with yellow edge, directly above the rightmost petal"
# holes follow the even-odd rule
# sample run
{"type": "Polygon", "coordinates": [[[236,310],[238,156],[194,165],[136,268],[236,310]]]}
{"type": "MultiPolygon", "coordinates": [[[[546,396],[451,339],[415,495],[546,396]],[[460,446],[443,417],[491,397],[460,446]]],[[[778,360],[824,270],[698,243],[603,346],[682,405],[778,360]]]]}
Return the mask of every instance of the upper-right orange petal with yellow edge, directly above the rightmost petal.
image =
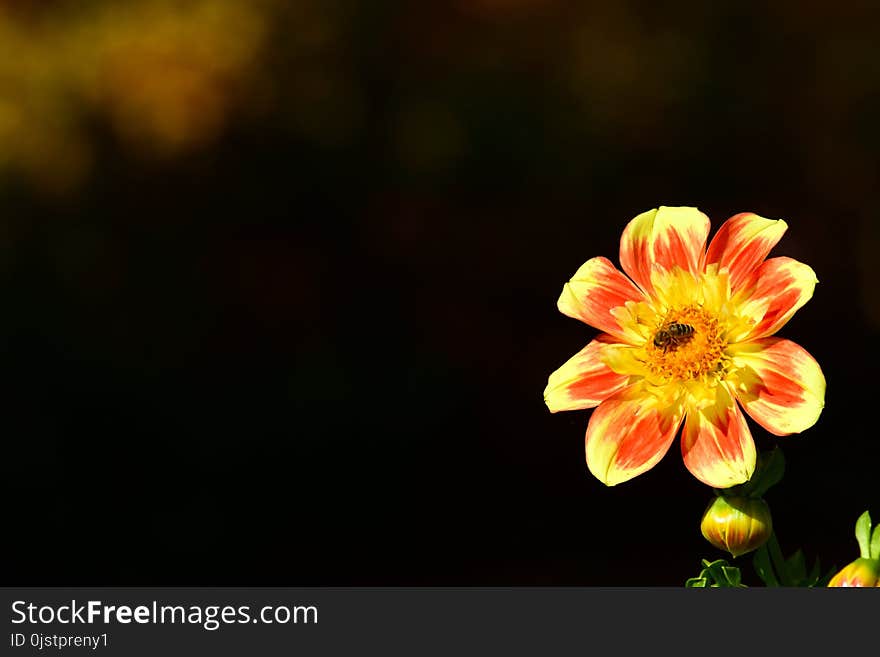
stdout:
{"type": "Polygon", "coordinates": [[[811,267],[791,258],[770,258],[746,277],[733,300],[748,329],[730,336],[745,342],[773,335],[813,296],[818,283],[811,267]]]}

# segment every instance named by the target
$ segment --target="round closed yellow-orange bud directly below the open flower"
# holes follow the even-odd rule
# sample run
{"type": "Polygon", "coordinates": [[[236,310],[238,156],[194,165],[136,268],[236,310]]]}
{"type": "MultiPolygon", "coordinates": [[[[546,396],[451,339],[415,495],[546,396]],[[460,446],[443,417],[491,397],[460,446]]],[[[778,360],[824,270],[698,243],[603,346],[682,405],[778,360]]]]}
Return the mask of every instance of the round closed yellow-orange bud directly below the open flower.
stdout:
{"type": "Polygon", "coordinates": [[[760,498],[717,496],[700,523],[703,537],[734,557],[761,547],[773,532],[770,507],[760,498]]]}

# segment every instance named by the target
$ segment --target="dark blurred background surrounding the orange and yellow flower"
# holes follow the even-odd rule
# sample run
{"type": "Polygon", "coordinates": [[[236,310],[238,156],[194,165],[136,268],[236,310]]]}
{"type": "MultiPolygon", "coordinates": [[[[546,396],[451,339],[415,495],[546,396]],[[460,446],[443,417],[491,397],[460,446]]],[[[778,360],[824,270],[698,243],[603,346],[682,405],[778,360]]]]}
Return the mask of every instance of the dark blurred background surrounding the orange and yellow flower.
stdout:
{"type": "Polygon", "coordinates": [[[0,65],[4,583],[681,585],[725,555],[678,443],[606,488],[542,399],[595,334],[563,283],[659,205],[784,218],[816,270],[780,335],[825,411],[750,426],[783,550],[857,557],[880,13],[747,4],[226,0],[133,57],[59,35],[152,14],[0,3],[45,58],[0,65]]]}

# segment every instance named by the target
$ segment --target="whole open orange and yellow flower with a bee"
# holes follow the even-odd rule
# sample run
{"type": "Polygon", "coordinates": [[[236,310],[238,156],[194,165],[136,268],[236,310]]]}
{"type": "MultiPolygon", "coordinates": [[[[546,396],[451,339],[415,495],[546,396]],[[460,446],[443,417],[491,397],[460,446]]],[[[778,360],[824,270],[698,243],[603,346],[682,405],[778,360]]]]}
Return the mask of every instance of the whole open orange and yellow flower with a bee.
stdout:
{"type": "Polygon", "coordinates": [[[565,284],[559,310],[602,333],[550,375],[544,401],[554,413],[595,408],[586,458],[600,481],[613,486],[652,468],[683,425],[687,469],[728,488],[755,469],[740,407],[777,436],[818,420],[822,370],[802,347],[771,337],[818,282],[803,263],[767,259],[787,228],[737,214],[706,249],[706,215],[661,207],[624,229],[626,275],[597,257],[565,284]]]}

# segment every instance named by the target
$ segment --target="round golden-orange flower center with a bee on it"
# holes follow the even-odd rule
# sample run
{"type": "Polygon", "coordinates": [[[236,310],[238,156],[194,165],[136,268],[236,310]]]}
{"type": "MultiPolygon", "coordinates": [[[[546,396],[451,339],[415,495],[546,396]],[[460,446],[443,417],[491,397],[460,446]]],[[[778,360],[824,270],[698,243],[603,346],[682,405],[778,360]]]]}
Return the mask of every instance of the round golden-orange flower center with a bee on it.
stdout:
{"type": "Polygon", "coordinates": [[[722,373],[724,330],[699,306],[670,310],[645,344],[647,365],[666,379],[689,380],[722,373]]]}

